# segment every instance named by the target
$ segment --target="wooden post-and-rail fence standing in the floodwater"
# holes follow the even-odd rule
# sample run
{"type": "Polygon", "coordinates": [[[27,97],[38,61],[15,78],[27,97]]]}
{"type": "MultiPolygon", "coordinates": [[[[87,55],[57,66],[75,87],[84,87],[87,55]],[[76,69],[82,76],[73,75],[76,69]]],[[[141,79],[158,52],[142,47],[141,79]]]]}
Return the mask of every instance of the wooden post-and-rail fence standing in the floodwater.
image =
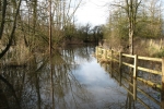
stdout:
{"type": "MultiPolygon", "coordinates": [[[[137,90],[140,90],[141,93],[143,93],[141,89],[138,88],[137,81],[141,81],[143,83],[147,83],[149,86],[152,86],[152,87],[160,89],[161,90],[161,102],[156,101],[153,98],[152,98],[152,100],[154,102],[156,102],[157,105],[160,105],[161,109],[164,109],[164,58],[149,58],[149,57],[141,57],[138,55],[127,55],[127,53],[122,53],[122,52],[118,52],[118,51],[114,51],[114,50],[109,50],[109,49],[103,49],[102,47],[96,47],[95,53],[96,53],[96,57],[101,57],[102,61],[110,61],[112,62],[110,63],[112,69],[113,69],[113,62],[118,62],[119,63],[119,66],[118,66],[119,73],[121,73],[122,65],[127,65],[127,66],[133,69],[133,71],[132,71],[133,72],[132,73],[133,74],[133,85],[132,85],[133,89],[132,89],[132,93],[129,92],[128,89],[127,90],[133,96],[134,100],[141,101],[141,99],[137,98],[137,90]],[[125,62],[125,61],[122,61],[124,58],[132,59],[132,62],[130,62],[130,63],[125,62]],[[156,70],[140,66],[139,60],[161,63],[162,70],[156,71],[156,70]],[[138,76],[139,70],[143,71],[143,72],[148,72],[150,74],[161,75],[161,84],[156,84],[156,83],[153,83],[151,81],[139,77],[138,76]]],[[[149,96],[149,95],[147,95],[147,96],[149,96]]],[[[144,102],[142,102],[142,104],[144,105],[144,102]]]]}

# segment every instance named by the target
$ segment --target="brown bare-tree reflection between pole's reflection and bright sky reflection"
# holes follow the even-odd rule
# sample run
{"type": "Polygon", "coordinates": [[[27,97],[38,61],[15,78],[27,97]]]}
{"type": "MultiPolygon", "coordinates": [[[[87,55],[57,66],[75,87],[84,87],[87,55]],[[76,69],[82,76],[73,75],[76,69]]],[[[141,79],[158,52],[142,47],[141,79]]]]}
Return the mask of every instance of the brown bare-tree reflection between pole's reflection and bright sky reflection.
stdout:
{"type": "Polygon", "coordinates": [[[55,55],[52,63],[54,69],[54,83],[55,83],[55,97],[58,108],[81,108],[81,102],[87,104],[91,99],[89,98],[89,92],[79,83],[79,81],[72,74],[72,70],[75,70],[79,64],[77,63],[75,57],[82,57],[83,59],[90,57],[90,55],[83,52],[84,48],[81,49],[66,49],[62,51],[62,57],[55,55]],[[81,52],[81,53],[79,53],[81,52]],[[78,53],[78,55],[77,55],[78,53]],[[81,55],[81,56],[80,56],[81,55]],[[69,73],[68,73],[69,72],[69,73]],[[68,99],[70,102],[68,102],[68,99]],[[62,106],[62,107],[61,107],[62,106]]]}

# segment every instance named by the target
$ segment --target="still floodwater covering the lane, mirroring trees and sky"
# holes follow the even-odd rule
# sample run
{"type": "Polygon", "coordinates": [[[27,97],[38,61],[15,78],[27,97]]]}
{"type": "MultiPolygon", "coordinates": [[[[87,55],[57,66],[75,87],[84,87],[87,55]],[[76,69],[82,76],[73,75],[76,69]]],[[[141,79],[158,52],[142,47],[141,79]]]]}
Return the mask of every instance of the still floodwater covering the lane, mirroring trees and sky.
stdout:
{"type": "MultiPolygon", "coordinates": [[[[95,46],[70,46],[51,61],[36,53],[26,66],[1,66],[0,109],[147,109],[97,62],[94,51],[95,46]]],[[[160,101],[160,93],[147,89],[160,101]]]]}

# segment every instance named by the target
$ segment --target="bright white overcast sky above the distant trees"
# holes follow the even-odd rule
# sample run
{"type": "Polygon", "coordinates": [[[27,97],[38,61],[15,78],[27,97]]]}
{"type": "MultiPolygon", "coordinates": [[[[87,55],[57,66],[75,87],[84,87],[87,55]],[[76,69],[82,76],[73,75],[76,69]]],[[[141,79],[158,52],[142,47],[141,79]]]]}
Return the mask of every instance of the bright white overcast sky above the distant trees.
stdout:
{"type": "Polygon", "coordinates": [[[78,9],[75,17],[78,23],[90,23],[92,26],[105,24],[108,16],[106,3],[109,0],[82,0],[84,3],[78,9]]]}

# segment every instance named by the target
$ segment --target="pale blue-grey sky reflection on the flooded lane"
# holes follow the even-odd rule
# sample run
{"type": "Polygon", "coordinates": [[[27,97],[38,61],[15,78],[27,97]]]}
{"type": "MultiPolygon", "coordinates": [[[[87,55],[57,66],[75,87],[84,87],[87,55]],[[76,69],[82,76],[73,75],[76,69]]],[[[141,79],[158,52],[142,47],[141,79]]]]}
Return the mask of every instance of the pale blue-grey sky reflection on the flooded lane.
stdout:
{"type": "Polygon", "coordinates": [[[126,100],[126,92],[105,72],[94,57],[92,61],[83,62],[73,71],[75,78],[93,96],[92,100],[96,108],[105,108],[110,102],[119,105],[126,100]]]}

